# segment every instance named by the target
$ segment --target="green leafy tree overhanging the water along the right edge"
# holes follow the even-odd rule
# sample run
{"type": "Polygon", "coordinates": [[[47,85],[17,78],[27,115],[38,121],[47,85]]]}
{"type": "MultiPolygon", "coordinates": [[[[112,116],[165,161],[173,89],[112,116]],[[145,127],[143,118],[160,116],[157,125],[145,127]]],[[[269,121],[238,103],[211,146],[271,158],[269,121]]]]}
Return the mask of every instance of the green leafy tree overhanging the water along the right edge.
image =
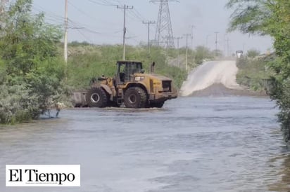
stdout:
{"type": "Polygon", "coordinates": [[[290,4],[289,0],[247,1],[229,0],[234,8],[229,30],[270,35],[274,40],[275,62],[270,96],[280,109],[279,122],[286,142],[290,142],[290,4]]]}

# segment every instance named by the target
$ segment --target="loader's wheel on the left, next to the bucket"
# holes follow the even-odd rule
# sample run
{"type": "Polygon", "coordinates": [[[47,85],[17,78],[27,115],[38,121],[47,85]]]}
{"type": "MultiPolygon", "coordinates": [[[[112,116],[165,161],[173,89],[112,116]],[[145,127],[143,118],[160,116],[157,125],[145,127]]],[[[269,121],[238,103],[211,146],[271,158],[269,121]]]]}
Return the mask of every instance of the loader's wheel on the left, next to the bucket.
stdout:
{"type": "Polygon", "coordinates": [[[102,88],[91,88],[87,92],[87,103],[89,107],[107,107],[108,95],[102,88]]]}

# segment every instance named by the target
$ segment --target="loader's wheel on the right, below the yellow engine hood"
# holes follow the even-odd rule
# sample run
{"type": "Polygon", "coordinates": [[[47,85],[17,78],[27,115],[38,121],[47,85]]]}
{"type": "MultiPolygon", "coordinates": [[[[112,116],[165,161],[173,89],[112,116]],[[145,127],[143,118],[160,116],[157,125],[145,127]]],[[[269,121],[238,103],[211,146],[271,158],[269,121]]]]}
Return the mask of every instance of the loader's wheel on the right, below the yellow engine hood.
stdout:
{"type": "Polygon", "coordinates": [[[132,87],[126,90],[124,104],[127,108],[144,108],[147,104],[147,94],[139,87],[132,87]]]}

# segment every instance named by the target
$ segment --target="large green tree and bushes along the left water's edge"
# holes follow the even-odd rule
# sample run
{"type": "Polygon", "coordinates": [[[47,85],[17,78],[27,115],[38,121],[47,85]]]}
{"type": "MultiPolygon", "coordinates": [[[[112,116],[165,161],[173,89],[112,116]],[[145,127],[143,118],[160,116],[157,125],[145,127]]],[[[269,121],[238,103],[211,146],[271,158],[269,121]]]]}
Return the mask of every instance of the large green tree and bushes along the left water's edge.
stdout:
{"type": "Polygon", "coordinates": [[[46,25],[44,14],[32,15],[31,8],[32,0],[18,0],[5,13],[0,35],[0,123],[37,118],[50,107],[64,76],[56,46],[60,30],[46,25]]]}

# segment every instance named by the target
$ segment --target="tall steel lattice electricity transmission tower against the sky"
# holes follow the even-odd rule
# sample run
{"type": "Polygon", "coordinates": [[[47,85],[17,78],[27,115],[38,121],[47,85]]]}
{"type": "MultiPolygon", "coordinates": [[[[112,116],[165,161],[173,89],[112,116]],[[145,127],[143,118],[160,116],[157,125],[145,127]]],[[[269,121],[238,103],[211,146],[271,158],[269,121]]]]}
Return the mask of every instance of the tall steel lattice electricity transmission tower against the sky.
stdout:
{"type": "Polygon", "coordinates": [[[175,0],[151,0],[151,2],[160,2],[154,45],[174,48],[175,44],[168,1],[175,0]]]}

